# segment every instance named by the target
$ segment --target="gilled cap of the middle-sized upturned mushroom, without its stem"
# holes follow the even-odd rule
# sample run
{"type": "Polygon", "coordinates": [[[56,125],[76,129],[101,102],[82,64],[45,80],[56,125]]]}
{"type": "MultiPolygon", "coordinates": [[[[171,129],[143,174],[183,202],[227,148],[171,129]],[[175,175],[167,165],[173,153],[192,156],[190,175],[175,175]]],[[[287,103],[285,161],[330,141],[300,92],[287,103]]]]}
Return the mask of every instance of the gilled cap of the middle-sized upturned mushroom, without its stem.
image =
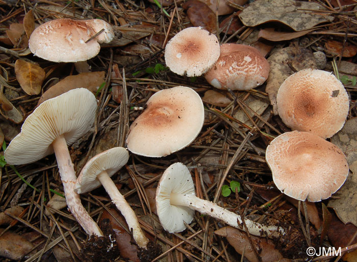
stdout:
{"type": "Polygon", "coordinates": [[[129,160],[129,153],[125,148],[116,147],[101,152],[84,165],[77,178],[74,188],[78,194],[90,192],[101,185],[97,176],[106,171],[111,177],[129,160]]]}

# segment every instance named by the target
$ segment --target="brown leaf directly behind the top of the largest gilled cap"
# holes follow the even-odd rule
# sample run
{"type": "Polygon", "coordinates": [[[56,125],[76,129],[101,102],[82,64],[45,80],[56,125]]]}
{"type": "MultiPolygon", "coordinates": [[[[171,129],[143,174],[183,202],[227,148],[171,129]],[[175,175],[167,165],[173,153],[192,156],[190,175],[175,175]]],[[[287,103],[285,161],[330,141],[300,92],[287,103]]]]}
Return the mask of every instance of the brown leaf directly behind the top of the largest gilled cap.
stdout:
{"type": "Polygon", "coordinates": [[[57,84],[48,88],[41,96],[40,100],[37,103],[37,106],[41,104],[43,101],[46,101],[50,98],[55,98],[60,94],[63,94],[69,90],[75,88],[85,87],[91,92],[96,92],[100,86],[104,82],[105,72],[88,72],[81,73],[75,76],[68,76],[62,79],[57,84]]]}

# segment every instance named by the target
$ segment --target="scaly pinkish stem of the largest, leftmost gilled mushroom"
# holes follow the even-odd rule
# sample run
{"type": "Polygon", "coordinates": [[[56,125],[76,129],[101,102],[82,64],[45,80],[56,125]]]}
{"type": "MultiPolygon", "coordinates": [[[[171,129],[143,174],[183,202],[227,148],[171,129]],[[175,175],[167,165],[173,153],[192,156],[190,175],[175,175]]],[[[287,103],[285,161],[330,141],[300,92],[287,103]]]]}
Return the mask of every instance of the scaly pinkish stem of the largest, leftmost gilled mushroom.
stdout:
{"type": "Polygon", "coordinates": [[[74,191],[74,185],[77,177],[75,176],[66,139],[63,135],[60,135],[53,141],[52,146],[55,151],[57,165],[60,171],[64,194],[66,196],[66,202],[69,210],[88,235],[95,234],[97,236],[103,236],[103,233],[98,225],[83,207],[80,196],[74,191]]]}

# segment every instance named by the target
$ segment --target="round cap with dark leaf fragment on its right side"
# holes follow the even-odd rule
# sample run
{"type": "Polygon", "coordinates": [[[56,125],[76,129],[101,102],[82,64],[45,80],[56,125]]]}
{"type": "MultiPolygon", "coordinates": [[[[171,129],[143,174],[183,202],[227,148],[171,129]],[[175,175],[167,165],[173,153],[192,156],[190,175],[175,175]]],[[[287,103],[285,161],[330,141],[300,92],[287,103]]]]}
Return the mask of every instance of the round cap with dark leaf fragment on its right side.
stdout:
{"type": "Polygon", "coordinates": [[[349,99],[343,84],[331,73],[303,69],[280,86],[277,111],[293,130],[331,137],[345,124],[349,99]]]}

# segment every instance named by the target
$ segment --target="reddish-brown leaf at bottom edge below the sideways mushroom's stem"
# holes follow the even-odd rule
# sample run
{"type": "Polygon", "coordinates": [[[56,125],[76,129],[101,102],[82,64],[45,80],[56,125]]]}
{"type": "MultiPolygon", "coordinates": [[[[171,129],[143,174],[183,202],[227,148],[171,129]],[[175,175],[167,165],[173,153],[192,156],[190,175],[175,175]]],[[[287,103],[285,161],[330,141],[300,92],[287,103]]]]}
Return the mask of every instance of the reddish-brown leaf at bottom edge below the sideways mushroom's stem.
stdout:
{"type": "MultiPolygon", "coordinates": [[[[259,262],[245,232],[237,228],[227,226],[216,230],[214,233],[216,235],[226,237],[228,243],[230,243],[239,254],[243,254],[244,252],[244,256],[250,262],[259,262]]],[[[262,258],[262,262],[271,262],[283,259],[283,255],[274,248],[274,242],[270,239],[258,236],[251,236],[250,238],[253,245],[256,247],[258,254],[262,258]]]]}

